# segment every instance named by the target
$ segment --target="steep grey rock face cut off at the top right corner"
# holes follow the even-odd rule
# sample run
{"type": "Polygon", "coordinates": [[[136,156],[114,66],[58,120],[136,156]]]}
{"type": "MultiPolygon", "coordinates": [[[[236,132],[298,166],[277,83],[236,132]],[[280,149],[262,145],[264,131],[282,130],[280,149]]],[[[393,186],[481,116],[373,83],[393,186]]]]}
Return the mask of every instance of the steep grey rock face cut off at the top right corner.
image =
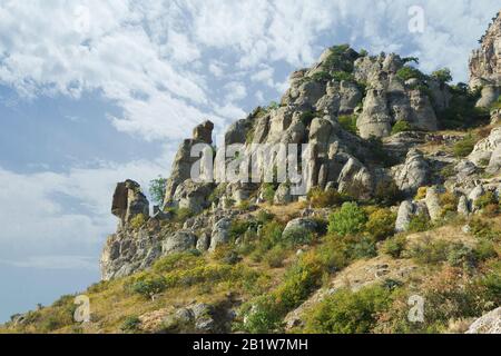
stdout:
{"type": "Polygon", "coordinates": [[[490,107],[500,95],[501,87],[501,12],[481,39],[480,49],[470,59],[470,86],[483,87],[480,107],[490,107]]]}

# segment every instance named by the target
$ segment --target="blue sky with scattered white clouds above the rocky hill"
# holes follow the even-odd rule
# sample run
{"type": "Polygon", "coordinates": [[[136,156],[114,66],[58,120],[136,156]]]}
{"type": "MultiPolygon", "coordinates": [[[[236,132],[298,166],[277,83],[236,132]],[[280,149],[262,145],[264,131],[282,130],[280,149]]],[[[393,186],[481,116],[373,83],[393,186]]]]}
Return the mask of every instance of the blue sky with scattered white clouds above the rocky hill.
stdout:
{"type": "Polygon", "coordinates": [[[326,47],[468,81],[499,0],[0,0],[0,323],[99,280],[117,181],[278,100],[326,47]],[[415,20],[419,20],[419,30],[415,20]],[[423,20],[423,21],[422,21],[423,20]],[[410,27],[411,23],[411,27],[410,27]]]}

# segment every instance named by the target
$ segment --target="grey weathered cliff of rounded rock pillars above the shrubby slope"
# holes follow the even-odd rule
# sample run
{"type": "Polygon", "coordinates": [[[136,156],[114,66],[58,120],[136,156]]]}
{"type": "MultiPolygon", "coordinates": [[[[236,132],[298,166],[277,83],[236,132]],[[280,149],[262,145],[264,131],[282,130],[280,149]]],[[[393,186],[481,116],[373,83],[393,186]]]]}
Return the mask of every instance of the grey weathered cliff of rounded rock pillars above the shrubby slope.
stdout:
{"type": "MultiPolygon", "coordinates": [[[[472,85],[493,85],[499,78],[499,23],[498,17],[471,60],[472,85]]],[[[228,243],[232,219],[248,215],[239,207],[258,208],[266,200],[266,190],[274,195],[268,199],[275,205],[305,201],[313,188],[358,201],[377,201],[391,195],[400,205],[395,206],[396,231],[405,230],[412,217],[422,212],[438,219],[438,197],[443,191],[458,198],[454,209],[464,215],[474,212],[473,202],[482,194],[500,194],[499,180],[483,178],[484,172],[497,175],[500,169],[499,129],[465,158],[420,150],[426,142],[451,146],[461,137],[436,132],[451,105],[452,89],[440,78],[411,67],[412,60],[394,53],[358,53],[348,46],[330,48],[315,66],[291,76],[279,105],[257,108],[228,128],[225,144],[245,145],[246,157],[254,154],[254,144],[313,147],[303,167],[303,196],[293,195],[286,182],[195,182],[190,170],[198,158],[191,157],[191,148],[210,145],[214,129],[210,121],[197,126],[193,137],[179,146],[166,185],[165,206],[153,217],[137,184],[117,186],[112,212],[120,225],[102,253],[102,278],[130,275],[169,253],[215,250],[228,243]],[[453,175],[445,177],[444,168],[453,175]],[[434,188],[422,201],[412,200],[422,187],[434,188]],[[175,217],[179,210],[189,211],[183,224],[175,217]],[[130,224],[138,215],[144,225],[130,224]]],[[[276,161],[258,161],[257,166],[269,164],[276,161]]],[[[264,175],[263,170],[259,174],[264,175]]]]}

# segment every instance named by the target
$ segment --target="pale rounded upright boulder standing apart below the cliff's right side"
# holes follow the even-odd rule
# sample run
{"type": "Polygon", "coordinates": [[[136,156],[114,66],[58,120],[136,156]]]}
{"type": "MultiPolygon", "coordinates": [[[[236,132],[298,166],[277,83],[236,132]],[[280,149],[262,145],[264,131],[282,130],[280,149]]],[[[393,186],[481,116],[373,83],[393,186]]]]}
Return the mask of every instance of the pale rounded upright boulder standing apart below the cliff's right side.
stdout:
{"type": "Polygon", "coordinates": [[[429,184],[430,165],[420,150],[411,149],[405,164],[394,167],[392,174],[396,186],[406,195],[412,196],[420,187],[429,184]]]}

